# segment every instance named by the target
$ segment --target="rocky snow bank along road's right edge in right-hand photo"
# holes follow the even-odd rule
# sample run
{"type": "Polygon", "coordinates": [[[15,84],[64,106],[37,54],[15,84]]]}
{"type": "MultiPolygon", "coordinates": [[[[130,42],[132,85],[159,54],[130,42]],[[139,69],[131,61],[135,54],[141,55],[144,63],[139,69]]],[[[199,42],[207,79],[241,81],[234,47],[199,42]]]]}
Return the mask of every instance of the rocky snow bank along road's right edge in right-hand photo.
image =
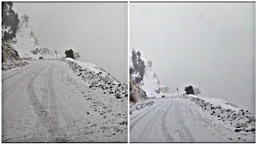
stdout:
{"type": "Polygon", "coordinates": [[[202,111],[210,114],[210,117],[221,122],[223,126],[241,132],[242,134],[255,134],[255,115],[248,110],[242,110],[230,102],[218,98],[202,98],[188,94],[182,98],[189,98],[202,111]]]}

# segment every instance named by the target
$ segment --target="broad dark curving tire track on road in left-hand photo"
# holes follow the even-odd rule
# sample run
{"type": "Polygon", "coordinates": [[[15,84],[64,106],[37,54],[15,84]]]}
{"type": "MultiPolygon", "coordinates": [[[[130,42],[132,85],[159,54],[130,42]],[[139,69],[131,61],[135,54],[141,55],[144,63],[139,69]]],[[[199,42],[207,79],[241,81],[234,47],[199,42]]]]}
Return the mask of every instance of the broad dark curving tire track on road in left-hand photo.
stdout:
{"type": "MultiPolygon", "coordinates": [[[[46,66],[43,66],[38,73],[34,74],[27,86],[28,96],[30,98],[30,103],[34,108],[34,112],[38,115],[39,125],[44,126],[46,131],[50,134],[50,138],[54,142],[63,142],[62,137],[59,135],[60,128],[58,127],[58,119],[53,116],[53,113],[46,111],[42,103],[39,102],[37,95],[34,92],[34,80],[38,77],[38,74],[44,70],[46,66]]],[[[62,130],[63,131],[63,130],[62,130]]]]}

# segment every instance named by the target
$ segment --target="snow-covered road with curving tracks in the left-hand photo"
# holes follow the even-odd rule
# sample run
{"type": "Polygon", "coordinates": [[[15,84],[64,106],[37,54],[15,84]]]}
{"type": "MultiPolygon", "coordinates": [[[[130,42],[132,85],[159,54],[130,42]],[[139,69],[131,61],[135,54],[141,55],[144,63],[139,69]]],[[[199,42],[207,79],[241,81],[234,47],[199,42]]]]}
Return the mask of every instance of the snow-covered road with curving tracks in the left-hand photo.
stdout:
{"type": "Polygon", "coordinates": [[[127,142],[127,102],[66,62],[31,61],[2,71],[2,142],[127,142]]]}

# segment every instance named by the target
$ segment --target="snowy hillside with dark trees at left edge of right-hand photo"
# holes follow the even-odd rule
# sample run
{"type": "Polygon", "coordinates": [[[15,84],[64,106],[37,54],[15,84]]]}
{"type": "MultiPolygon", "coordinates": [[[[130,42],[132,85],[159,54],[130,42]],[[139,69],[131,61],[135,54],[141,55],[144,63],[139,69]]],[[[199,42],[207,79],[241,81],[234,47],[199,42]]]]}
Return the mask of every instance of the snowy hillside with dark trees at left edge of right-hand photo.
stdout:
{"type": "Polygon", "coordinates": [[[130,114],[134,110],[152,106],[150,98],[166,98],[170,88],[162,86],[152,68],[152,61],[141,58],[139,50],[133,50],[130,58],[130,114]]]}

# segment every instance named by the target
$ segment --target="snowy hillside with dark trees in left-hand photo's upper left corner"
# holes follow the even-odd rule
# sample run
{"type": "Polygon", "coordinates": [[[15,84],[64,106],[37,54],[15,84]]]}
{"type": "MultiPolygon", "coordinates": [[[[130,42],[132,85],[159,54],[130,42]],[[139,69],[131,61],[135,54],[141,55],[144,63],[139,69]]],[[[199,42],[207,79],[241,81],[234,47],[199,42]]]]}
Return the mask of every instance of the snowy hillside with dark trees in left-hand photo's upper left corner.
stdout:
{"type": "Polygon", "coordinates": [[[25,66],[28,59],[55,58],[49,49],[38,46],[29,15],[14,11],[13,2],[2,2],[2,9],[2,70],[25,66]]]}

